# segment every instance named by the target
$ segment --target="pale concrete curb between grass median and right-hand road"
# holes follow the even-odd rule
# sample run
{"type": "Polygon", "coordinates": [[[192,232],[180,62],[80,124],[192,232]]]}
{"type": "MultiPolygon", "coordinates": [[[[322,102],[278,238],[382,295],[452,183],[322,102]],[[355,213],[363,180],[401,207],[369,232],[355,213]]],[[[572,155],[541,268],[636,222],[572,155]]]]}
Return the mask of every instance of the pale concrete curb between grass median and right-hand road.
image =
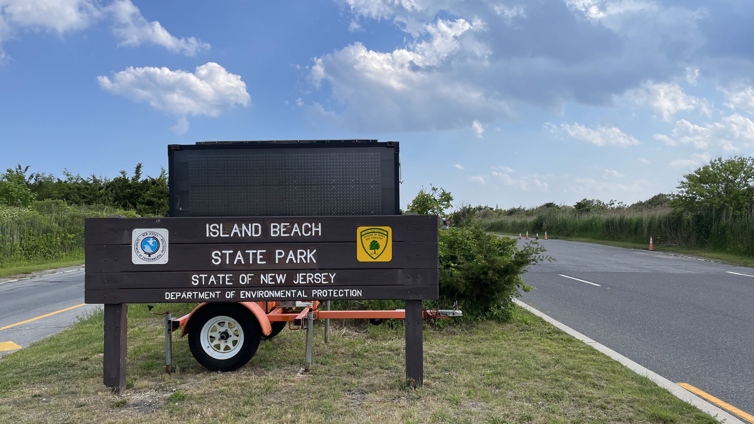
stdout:
{"type": "Polygon", "coordinates": [[[596,341],[590,339],[587,336],[584,336],[584,334],[579,333],[578,331],[567,326],[566,324],[562,324],[562,322],[556,321],[555,319],[550,318],[549,315],[546,315],[538,311],[537,309],[532,308],[532,306],[529,306],[518,299],[513,299],[513,302],[515,302],[516,305],[521,306],[523,309],[526,309],[527,311],[532,312],[532,314],[537,315],[538,317],[544,319],[544,321],[547,321],[550,324],[553,324],[555,327],[559,328],[560,330],[563,330],[564,332],[568,333],[570,336],[574,336],[578,340],[581,340],[582,342],[587,343],[587,345],[592,346],[594,349],[599,350],[599,352],[602,352],[605,355],[608,355],[610,358],[615,359],[615,361],[618,361],[621,364],[625,365],[626,367],[629,367],[630,370],[639,374],[640,376],[645,376],[648,379],[651,379],[652,381],[654,381],[654,383],[657,383],[657,386],[660,386],[663,389],[667,389],[670,393],[675,395],[676,398],[679,398],[680,400],[685,401],[686,403],[699,408],[701,411],[705,413],[709,413],[711,416],[714,416],[720,422],[725,422],[725,424],[746,424],[745,422],[731,415],[731,413],[728,413],[727,411],[722,410],[721,408],[716,407],[713,404],[707,403],[702,398],[699,398],[697,395],[694,395],[693,393],[682,388],[681,386],[678,386],[676,383],[673,383],[672,381],[665,378],[664,376],[661,376],[657,373],[654,373],[646,369],[645,367],[642,367],[639,364],[636,364],[636,362],[631,361],[629,358],[626,358],[624,355],[621,355],[618,352],[615,352],[614,350],[608,348],[607,346],[597,343],[596,341]]]}

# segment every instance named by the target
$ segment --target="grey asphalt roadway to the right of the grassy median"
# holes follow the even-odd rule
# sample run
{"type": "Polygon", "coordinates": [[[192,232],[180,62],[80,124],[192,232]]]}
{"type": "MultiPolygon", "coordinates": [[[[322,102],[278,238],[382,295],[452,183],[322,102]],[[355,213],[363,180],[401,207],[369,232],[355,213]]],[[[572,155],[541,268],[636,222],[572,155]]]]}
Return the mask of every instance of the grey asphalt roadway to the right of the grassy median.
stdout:
{"type": "Polygon", "coordinates": [[[523,279],[537,290],[521,300],[673,382],[754,413],[754,269],[540,243],[556,261],[532,266],[523,279]]]}

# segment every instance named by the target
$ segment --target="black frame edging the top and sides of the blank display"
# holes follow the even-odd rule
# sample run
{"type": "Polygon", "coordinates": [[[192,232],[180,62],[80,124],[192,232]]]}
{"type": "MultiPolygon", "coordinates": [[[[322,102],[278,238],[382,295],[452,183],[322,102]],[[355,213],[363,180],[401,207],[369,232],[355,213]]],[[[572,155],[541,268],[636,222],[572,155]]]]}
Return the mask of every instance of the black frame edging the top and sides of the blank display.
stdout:
{"type": "MultiPolygon", "coordinates": [[[[383,215],[400,215],[400,148],[397,141],[380,142],[378,140],[238,140],[238,141],[204,141],[196,144],[170,144],[167,146],[167,184],[168,184],[168,217],[176,217],[175,187],[173,180],[173,153],[176,150],[222,150],[222,149],[328,149],[328,148],[374,148],[382,147],[394,150],[394,207],[385,207],[383,215]]],[[[383,175],[385,177],[385,175],[383,175]]]]}

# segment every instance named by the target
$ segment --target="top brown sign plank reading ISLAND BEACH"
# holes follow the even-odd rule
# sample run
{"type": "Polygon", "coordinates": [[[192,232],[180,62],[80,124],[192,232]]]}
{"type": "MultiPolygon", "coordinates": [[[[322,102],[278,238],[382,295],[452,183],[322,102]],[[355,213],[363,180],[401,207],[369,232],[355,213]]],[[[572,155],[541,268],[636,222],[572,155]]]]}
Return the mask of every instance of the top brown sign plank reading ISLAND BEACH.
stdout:
{"type": "Polygon", "coordinates": [[[389,226],[393,241],[437,241],[437,217],[383,215],[365,217],[182,217],[87,218],[87,246],[131,244],[136,228],[164,228],[170,244],[297,243],[355,241],[360,226],[389,226]]]}

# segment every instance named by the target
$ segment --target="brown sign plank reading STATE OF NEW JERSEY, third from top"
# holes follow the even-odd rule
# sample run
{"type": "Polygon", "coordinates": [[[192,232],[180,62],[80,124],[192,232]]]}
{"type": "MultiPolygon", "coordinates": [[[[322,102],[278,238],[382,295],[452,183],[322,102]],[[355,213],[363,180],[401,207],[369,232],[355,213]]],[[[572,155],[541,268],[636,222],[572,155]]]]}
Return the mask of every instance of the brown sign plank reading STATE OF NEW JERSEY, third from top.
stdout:
{"type": "Polygon", "coordinates": [[[274,288],[437,284],[437,269],[315,269],[183,272],[87,272],[84,289],[274,288]]]}

